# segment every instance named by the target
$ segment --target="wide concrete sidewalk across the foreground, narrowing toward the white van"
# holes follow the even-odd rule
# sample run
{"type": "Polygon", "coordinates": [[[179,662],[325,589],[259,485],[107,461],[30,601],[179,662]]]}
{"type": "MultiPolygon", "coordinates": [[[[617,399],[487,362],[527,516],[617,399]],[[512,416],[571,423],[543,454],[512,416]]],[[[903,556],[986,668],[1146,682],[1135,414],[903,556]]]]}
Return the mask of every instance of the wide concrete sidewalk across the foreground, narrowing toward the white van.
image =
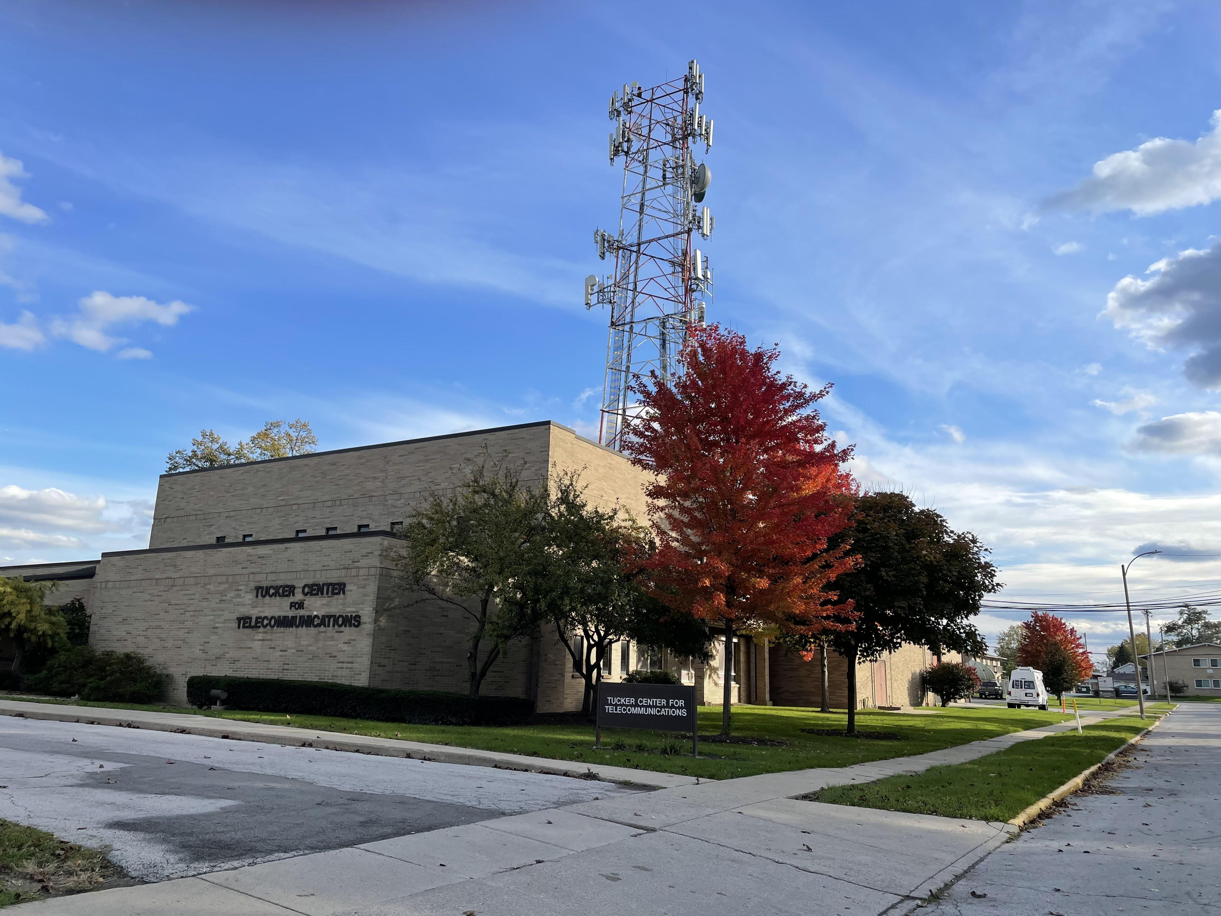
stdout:
{"type": "Polygon", "coordinates": [[[672,787],[28,907],[66,916],[705,916],[712,904],[761,915],[880,914],[943,887],[1015,828],[792,796],[974,760],[1074,727],[840,769],[672,787]]]}

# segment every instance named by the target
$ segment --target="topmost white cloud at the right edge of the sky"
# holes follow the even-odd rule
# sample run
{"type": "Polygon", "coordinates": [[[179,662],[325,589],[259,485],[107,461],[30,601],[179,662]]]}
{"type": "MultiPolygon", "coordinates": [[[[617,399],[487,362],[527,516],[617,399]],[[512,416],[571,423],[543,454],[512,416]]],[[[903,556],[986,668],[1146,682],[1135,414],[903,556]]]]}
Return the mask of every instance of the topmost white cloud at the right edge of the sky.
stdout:
{"type": "Polygon", "coordinates": [[[1093,175],[1072,191],[1056,194],[1045,210],[1131,210],[1137,216],[1208,204],[1221,197],[1221,110],[1212,129],[1195,143],[1165,137],[1136,149],[1112,153],[1094,164],[1093,175]]]}

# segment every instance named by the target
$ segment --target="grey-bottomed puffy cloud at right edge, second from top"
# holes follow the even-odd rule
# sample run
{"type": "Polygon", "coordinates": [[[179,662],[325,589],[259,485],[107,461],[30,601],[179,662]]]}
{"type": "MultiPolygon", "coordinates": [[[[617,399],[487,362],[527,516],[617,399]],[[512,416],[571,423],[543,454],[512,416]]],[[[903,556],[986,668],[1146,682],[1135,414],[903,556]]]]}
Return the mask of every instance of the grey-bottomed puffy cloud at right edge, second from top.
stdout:
{"type": "Polygon", "coordinates": [[[1183,364],[1187,380],[1221,388],[1221,242],[1162,258],[1145,274],[1116,283],[1103,315],[1151,349],[1195,351],[1183,364]]]}

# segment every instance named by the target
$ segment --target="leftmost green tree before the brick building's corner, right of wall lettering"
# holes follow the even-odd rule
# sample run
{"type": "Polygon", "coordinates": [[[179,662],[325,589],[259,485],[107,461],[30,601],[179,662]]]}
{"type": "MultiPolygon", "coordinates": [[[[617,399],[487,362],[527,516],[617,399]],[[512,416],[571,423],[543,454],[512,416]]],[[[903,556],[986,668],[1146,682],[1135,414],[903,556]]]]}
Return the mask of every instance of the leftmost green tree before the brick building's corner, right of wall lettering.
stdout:
{"type": "Polygon", "coordinates": [[[546,484],[527,486],[524,463],[487,451],[468,460],[452,493],[432,493],[400,531],[396,557],[408,589],[460,609],[471,624],[466,644],[468,690],[474,696],[508,644],[532,631],[536,619],[520,578],[526,551],[540,537],[548,509],[546,484]]]}

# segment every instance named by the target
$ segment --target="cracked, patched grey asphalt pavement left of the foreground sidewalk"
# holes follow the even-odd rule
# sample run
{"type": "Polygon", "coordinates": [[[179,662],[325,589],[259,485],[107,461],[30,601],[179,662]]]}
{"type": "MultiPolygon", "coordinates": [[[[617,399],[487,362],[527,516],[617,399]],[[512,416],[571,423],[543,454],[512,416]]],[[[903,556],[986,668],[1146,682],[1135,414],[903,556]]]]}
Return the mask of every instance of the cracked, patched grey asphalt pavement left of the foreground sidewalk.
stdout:
{"type": "Polygon", "coordinates": [[[144,881],[629,791],[491,767],[0,717],[0,818],[107,845],[144,881]]]}

